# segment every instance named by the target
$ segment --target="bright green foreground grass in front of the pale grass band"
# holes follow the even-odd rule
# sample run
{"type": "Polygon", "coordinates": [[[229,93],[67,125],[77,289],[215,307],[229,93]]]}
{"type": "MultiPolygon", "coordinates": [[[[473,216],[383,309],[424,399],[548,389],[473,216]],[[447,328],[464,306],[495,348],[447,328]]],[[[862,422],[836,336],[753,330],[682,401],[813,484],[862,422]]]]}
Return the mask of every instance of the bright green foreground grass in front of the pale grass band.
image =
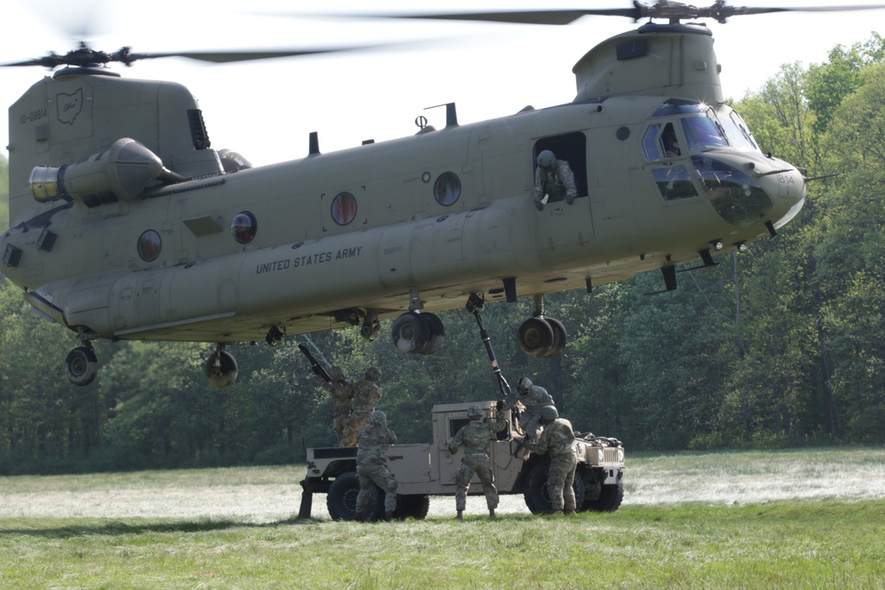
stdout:
{"type": "Polygon", "coordinates": [[[0,521],[5,588],[877,588],[885,502],[489,522],[0,521]]]}

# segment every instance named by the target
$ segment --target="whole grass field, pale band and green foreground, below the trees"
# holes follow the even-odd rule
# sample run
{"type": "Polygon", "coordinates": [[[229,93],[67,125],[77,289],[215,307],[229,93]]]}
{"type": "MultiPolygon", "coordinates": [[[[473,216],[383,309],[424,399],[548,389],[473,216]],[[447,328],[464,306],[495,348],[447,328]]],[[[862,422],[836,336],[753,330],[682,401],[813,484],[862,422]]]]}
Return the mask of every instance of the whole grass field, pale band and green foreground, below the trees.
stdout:
{"type": "Polygon", "coordinates": [[[629,456],[611,514],[295,518],[302,467],[0,479],[3,588],[885,588],[885,449],[629,456]]]}

